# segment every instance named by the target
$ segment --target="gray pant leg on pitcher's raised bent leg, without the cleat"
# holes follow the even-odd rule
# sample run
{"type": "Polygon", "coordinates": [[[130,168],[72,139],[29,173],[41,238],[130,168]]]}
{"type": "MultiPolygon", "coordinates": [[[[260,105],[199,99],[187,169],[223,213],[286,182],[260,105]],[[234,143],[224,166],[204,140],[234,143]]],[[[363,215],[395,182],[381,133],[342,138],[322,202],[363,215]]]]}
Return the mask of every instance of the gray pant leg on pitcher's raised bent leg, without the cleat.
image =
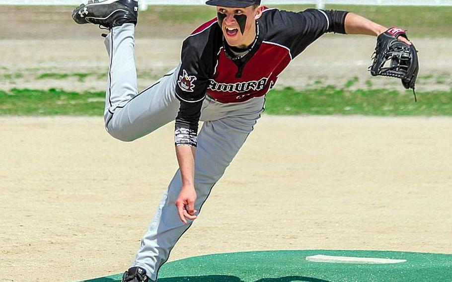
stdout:
{"type": "Polygon", "coordinates": [[[175,95],[179,67],[138,93],[134,25],[111,29],[105,38],[110,56],[105,101],[105,128],[115,138],[133,141],[174,121],[179,110],[175,95]]]}

